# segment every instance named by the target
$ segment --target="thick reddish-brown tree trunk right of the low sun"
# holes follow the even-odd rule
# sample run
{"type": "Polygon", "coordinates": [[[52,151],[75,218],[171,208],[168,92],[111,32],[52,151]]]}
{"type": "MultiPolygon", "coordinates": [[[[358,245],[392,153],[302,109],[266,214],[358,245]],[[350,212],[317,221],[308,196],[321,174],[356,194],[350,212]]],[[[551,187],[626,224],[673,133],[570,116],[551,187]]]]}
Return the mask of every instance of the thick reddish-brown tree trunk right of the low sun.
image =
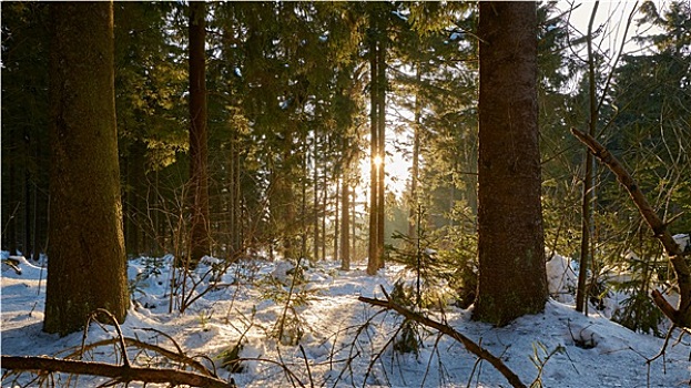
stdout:
{"type": "Polygon", "coordinates": [[[478,296],[505,325],[547,302],[534,2],[480,2],[478,296]],[[509,227],[510,226],[510,227],[509,227]]]}

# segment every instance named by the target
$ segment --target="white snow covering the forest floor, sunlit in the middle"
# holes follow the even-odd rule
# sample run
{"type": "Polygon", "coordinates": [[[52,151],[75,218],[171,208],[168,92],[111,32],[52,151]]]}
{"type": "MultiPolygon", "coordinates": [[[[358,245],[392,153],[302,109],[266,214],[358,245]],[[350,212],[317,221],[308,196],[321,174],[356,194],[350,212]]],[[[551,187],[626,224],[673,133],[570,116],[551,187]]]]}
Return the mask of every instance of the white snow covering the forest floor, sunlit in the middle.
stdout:
{"type": "MultiPolygon", "coordinates": [[[[3,253],[2,258],[7,257],[3,253]]],[[[60,338],[41,331],[45,270],[23,257],[17,261],[21,274],[2,266],[2,355],[67,357],[77,351],[82,333],[60,338]]],[[[426,328],[418,329],[423,345],[417,354],[400,354],[392,346],[384,347],[402,318],[395,313],[380,313],[357,297],[383,298],[379,286],[390,292],[395,279],[403,274],[399,266],[388,266],[377,276],[367,276],[365,263],[354,263],[350,272],[338,269],[338,264],[333,262],[301,263],[303,279],[293,284],[296,294],[291,298],[292,308],[286,309],[292,285],[288,276],[295,273],[295,263],[238,262],[220,276],[215,288],[181,314],[169,313],[172,263],[172,256],[129,262],[128,274],[135,292],[122,325],[124,336],[174,350],[175,344],[160,334],[164,333],[187,356],[210,368],[215,366],[219,377],[233,378],[238,387],[509,386],[488,363],[478,363],[457,341],[426,328]],[[284,314],[288,321],[295,323],[287,325],[291,327],[284,333],[289,337],[284,343],[294,340],[289,345],[282,345],[275,336],[277,320],[284,314]],[[240,357],[251,360],[243,361],[240,372],[221,368],[222,355],[238,343],[242,343],[240,357]],[[291,381],[289,374],[280,365],[299,381],[291,381]]],[[[219,264],[212,259],[202,262],[195,273],[195,280],[201,284],[193,293],[211,285],[211,276],[203,275],[219,264]]],[[[664,339],[630,331],[595,308],[591,308],[595,314],[589,316],[576,313],[569,297],[576,276],[569,261],[555,255],[548,262],[555,298],[547,303],[545,313],[521,317],[506,327],[472,321],[472,307],[447,306],[443,313],[426,313],[500,356],[527,385],[536,379],[540,366],[545,387],[688,386],[691,379],[688,337],[677,341],[677,331],[664,357],[648,364],[662,349],[664,339]]],[[[92,324],[87,344],[115,336],[112,326],[92,324]]],[[[154,361],[133,347],[129,349],[132,360],[142,365],[154,361]]],[[[84,359],[116,363],[116,354],[113,345],[101,346],[89,351],[84,359]]],[[[7,377],[2,386],[11,386],[13,378],[7,377]]],[[[67,378],[62,376],[57,385],[64,385],[67,378]]],[[[105,381],[82,376],[72,386],[93,387],[105,381]]]]}

